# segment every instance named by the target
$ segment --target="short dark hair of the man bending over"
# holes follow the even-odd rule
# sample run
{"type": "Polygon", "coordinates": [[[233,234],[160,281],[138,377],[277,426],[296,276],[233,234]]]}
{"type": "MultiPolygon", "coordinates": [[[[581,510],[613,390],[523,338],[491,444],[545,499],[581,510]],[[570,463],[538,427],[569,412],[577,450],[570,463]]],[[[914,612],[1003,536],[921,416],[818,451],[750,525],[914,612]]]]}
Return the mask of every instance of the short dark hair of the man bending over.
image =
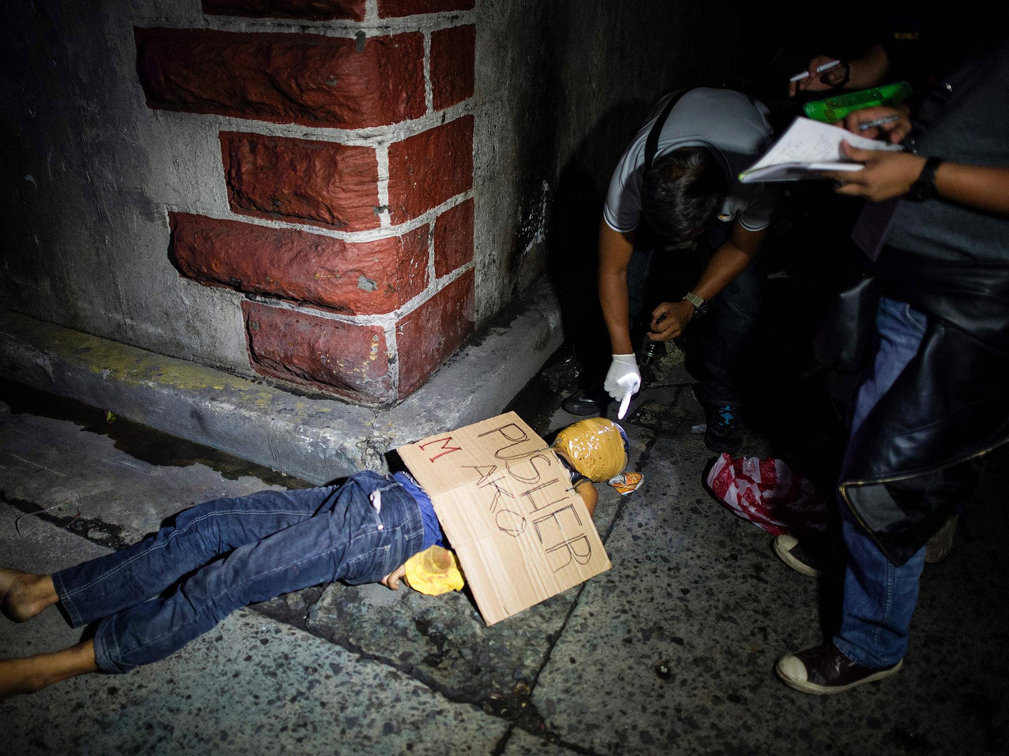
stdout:
{"type": "Polygon", "coordinates": [[[659,236],[673,242],[699,236],[726,194],[725,171],[704,147],[680,147],[645,171],[641,206],[659,236]]]}

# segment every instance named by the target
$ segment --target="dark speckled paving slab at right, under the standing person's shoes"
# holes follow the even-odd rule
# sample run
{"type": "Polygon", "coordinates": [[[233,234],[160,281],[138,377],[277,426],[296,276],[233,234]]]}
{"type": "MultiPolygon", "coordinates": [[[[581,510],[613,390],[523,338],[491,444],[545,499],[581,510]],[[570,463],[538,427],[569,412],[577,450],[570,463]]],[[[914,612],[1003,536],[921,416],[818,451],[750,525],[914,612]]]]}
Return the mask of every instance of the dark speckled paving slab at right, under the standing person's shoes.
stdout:
{"type": "MultiPolygon", "coordinates": [[[[926,569],[895,677],[836,697],[794,692],[774,663],[820,641],[820,611],[835,611],[837,587],[789,571],[770,536],[704,493],[708,457],[699,437],[660,436],[651,449],[643,495],[606,541],[613,570],[586,586],[534,689],[549,732],[607,754],[1005,747],[1009,594],[987,577],[1004,556],[979,549],[926,569]],[[969,609],[965,592],[975,596],[969,609]]],[[[990,548],[1007,535],[994,506],[973,535],[990,548]]]]}

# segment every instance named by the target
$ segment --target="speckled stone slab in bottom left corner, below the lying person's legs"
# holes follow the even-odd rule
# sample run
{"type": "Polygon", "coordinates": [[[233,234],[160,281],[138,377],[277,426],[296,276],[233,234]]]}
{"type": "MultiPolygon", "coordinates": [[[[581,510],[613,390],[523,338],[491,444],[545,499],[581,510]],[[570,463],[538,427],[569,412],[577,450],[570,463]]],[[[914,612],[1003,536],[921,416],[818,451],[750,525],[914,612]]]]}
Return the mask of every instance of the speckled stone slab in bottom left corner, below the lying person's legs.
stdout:
{"type": "Polygon", "coordinates": [[[490,753],[508,723],[241,610],[170,659],[0,702],[11,753],[490,753]]]}

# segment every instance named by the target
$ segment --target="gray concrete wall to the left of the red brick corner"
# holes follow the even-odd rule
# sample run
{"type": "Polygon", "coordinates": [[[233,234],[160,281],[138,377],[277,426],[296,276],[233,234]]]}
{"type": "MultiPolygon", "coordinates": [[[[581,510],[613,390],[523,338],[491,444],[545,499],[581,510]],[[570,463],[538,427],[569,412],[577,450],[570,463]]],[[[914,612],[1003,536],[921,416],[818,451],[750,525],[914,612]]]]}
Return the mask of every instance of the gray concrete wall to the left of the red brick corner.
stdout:
{"type": "Polygon", "coordinates": [[[240,297],[184,281],[169,209],[227,209],[217,118],[153,111],[134,25],[203,25],[199,0],[35,2],[7,61],[4,306],[161,354],[249,372],[240,297]]]}

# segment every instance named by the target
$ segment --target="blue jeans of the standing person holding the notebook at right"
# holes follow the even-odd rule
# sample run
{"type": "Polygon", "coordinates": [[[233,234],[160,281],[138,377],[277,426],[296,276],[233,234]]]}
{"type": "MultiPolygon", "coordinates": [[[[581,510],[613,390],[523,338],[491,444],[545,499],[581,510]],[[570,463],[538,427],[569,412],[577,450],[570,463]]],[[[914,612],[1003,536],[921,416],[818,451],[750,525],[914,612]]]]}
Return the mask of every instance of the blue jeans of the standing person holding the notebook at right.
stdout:
{"type": "MultiPolygon", "coordinates": [[[[876,317],[872,366],[863,375],[852,415],[851,435],[918,353],[927,321],[906,302],[883,297],[876,317]]],[[[907,651],[907,629],[918,603],[918,578],[925,549],[895,566],[840,502],[842,532],[848,545],[845,606],[833,643],[852,661],[880,669],[907,651]]]]}

